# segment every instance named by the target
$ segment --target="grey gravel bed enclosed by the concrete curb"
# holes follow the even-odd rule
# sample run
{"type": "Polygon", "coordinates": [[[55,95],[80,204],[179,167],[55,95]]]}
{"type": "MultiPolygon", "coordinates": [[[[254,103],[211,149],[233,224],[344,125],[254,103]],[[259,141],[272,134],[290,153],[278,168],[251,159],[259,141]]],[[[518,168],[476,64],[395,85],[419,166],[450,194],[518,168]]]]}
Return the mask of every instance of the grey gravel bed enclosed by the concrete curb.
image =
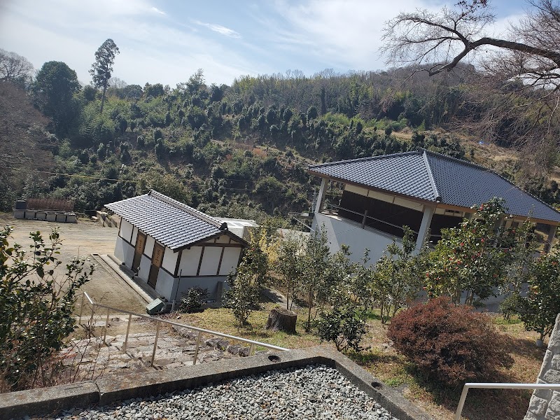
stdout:
{"type": "Polygon", "coordinates": [[[396,420],[337,370],[325,365],[271,370],[193,390],[75,409],[55,419],[396,420]]]}

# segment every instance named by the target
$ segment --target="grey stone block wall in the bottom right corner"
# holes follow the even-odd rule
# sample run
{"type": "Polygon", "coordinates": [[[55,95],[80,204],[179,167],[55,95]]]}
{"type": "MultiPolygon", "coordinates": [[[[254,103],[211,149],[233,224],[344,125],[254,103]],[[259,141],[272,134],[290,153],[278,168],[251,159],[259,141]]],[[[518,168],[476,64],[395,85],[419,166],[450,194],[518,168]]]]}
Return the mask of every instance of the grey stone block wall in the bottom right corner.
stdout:
{"type": "MultiPolygon", "coordinates": [[[[556,317],[537,383],[560,384],[560,314],[556,317]]],[[[552,419],[560,419],[560,392],[552,389],[535,390],[524,420],[552,419]]]]}

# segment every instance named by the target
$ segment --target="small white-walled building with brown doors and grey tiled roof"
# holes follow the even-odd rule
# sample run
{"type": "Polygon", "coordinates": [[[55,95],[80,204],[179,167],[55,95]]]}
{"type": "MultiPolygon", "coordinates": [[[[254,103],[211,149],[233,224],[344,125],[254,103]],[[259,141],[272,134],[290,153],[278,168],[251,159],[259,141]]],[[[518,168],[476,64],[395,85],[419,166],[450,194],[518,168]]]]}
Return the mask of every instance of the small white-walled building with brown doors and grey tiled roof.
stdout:
{"type": "Polygon", "coordinates": [[[115,256],[169,302],[193,287],[221,300],[246,241],[228,223],[157,191],[106,204],[120,216],[115,256]]]}

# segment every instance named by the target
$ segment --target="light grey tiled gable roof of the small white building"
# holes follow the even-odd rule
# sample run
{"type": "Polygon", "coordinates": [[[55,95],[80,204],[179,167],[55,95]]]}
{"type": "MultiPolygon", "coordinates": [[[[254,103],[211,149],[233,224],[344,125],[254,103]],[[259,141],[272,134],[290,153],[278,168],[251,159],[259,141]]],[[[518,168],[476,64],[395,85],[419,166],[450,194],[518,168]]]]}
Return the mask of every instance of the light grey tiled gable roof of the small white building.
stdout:
{"type": "MultiPolygon", "coordinates": [[[[106,204],[107,209],[171,249],[195,244],[228,225],[157,191],[106,204]]],[[[229,234],[236,237],[233,234],[229,234]]],[[[242,239],[239,239],[242,241],[242,239]]]]}

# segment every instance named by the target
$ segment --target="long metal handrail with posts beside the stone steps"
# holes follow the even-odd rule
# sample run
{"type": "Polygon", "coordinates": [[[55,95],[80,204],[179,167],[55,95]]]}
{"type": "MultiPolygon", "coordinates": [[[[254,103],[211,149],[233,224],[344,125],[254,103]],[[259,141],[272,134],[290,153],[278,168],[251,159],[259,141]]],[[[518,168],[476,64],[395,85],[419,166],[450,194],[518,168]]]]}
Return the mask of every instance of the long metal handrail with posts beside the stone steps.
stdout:
{"type": "Polygon", "coordinates": [[[271,349],[271,350],[277,350],[277,351],[288,351],[288,350],[290,350],[290,349],[285,349],[283,347],[274,346],[272,344],[257,342],[257,341],[254,341],[252,339],[246,339],[246,338],[243,338],[243,337],[236,337],[235,335],[223,334],[223,332],[205,330],[204,328],[193,327],[192,325],[185,325],[185,324],[182,324],[182,323],[167,321],[166,319],[155,318],[154,316],[149,316],[149,315],[144,315],[144,314],[136,314],[136,313],[131,312],[131,311],[126,311],[125,309],[119,309],[119,308],[107,306],[105,304],[99,304],[99,303],[94,302],[94,300],[92,300],[90,295],[87,295],[87,292],[82,293],[82,301],[81,301],[81,305],[80,305],[80,314],[79,314],[80,320],[81,320],[82,315],[83,315],[83,309],[87,305],[90,306],[90,325],[93,325],[92,321],[93,321],[93,317],[94,317],[96,309],[107,309],[107,314],[106,314],[106,318],[105,318],[105,328],[104,328],[104,333],[103,333],[103,343],[104,344],[106,344],[105,340],[106,340],[106,337],[107,337],[107,328],[109,328],[109,314],[111,314],[111,311],[113,312],[113,314],[115,312],[120,313],[120,314],[128,314],[127,333],[125,335],[125,341],[123,342],[123,348],[121,349],[121,351],[123,353],[125,353],[127,351],[128,335],[129,335],[129,332],[130,332],[130,323],[132,322],[132,316],[137,316],[139,318],[145,318],[145,319],[149,319],[151,321],[154,321],[156,323],[156,325],[155,325],[155,339],[154,339],[154,343],[153,343],[153,351],[152,351],[150,366],[153,366],[153,363],[154,363],[154,360],[155,360],[155,351],[158,349],[158,337],[160,335],[160,326],[161,326],[162,323],[167,324],[167,325],[176,326],[176,327],[179,327],[179,328],[187,328],[188,330],[193,330],[193,331],[197,332],[197,342],[196,342],[196,346],[195,346],[195,355],[193,356],[193,365],[196,365],[196,363],[197,363],[197,357],[198,357],[198,352],[199,352],[199,349],[200,349],[200,341],[201,341],[202,334],[214,335],[216,337],[223,337],[223,338],[230,339],[230,340],[233,340],[233,341],[236,341],[236,342],[242,342],[242,343],[248,344],[248,346],[249,346],[248,356],[253,355],[253,353],[255,351],[255,346],[260,346],[260,347],[264,347],[265,349],[271,349]]]}

